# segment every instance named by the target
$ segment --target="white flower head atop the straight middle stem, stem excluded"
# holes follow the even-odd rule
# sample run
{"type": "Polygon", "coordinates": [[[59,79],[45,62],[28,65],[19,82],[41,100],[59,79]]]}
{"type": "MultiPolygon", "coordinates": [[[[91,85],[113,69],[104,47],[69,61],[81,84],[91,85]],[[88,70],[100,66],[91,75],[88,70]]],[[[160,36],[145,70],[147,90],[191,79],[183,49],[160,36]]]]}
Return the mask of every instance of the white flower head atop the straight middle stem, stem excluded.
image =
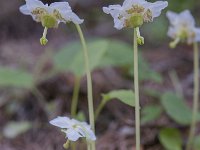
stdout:
{"type": "Polygon", "coordinates": [[[111,14],[114,18],[114,27],[118,30],[124,27],[134,27],[132,23],[137,22],[137,18],[133,16],[140,16],[142,22],[153,21],[155,17],[161,14],[161,10],[168,6],[167,1],[157,1],[150,3],[145,0],[125,0],[123,5],[110,5],[103,7],[106,14],[111,14]]]}

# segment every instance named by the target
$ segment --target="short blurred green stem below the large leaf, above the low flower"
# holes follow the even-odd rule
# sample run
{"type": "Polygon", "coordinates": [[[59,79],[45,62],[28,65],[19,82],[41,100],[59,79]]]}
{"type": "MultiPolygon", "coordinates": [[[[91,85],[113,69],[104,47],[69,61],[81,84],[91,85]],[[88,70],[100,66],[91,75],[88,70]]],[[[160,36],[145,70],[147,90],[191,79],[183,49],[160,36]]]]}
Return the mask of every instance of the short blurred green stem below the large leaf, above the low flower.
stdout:
{"type": "Polygon", "coordinates": [[[77,113],[78,96],[80,90],[80,77],[75,77],[74,90],[71,104],[71,116],[75,117],[77,113]]]}

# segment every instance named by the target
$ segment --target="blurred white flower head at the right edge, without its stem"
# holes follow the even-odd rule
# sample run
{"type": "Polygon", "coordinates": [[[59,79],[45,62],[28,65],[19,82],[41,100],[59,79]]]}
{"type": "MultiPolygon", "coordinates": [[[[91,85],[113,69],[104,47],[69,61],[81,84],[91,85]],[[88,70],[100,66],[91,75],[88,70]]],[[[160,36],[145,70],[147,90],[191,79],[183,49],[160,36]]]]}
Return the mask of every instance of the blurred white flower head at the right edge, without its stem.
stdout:
{"type": "Polygon", "coordinates": [[[179,42],[192,44],[200,41],[200,28],[195,27],[195,20],[189,10],[179,14],[168,11],[167,17],[170,21],[167,35],[174,39],[170,47],[175,47],[179,42]]]}

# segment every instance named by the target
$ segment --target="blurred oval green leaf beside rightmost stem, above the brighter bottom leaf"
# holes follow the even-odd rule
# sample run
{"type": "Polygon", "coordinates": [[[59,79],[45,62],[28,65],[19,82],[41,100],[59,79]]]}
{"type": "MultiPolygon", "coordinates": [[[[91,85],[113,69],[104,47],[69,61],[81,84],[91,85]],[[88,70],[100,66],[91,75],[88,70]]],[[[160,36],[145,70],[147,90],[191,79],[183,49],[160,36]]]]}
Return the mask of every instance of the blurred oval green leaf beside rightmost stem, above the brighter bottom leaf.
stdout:
{"type": "Polygon", "coordinates": [[[192,111],[183,98],[172,92],[166,92],[162,95],[161,102],[169,117],[174,121],[182,125],[189,125],[191,123],[192,111]]]}

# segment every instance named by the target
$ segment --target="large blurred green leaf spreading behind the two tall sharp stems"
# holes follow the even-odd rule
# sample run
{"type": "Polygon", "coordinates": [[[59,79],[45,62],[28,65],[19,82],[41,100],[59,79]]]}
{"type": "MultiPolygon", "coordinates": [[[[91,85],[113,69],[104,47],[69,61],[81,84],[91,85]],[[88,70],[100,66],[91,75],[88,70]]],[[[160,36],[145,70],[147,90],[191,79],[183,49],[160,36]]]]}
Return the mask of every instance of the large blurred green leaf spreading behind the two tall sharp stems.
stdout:
{"type": "MultiPolygon", "coordinates": [[[[126,67],[133,72],[132,46],[118,40],[96,39],[88,41],[90,69],[104,67],[126,67]]],[[[160,74],[152,71],[141,55],[139,57],[140,80],[161,82],[160,74]]],[[[54,57],[55,68],[58,71],[71,71],[76,76],[85,73],[83,50],[80,42],[72,42],[57,52],[54,57]]]]}

